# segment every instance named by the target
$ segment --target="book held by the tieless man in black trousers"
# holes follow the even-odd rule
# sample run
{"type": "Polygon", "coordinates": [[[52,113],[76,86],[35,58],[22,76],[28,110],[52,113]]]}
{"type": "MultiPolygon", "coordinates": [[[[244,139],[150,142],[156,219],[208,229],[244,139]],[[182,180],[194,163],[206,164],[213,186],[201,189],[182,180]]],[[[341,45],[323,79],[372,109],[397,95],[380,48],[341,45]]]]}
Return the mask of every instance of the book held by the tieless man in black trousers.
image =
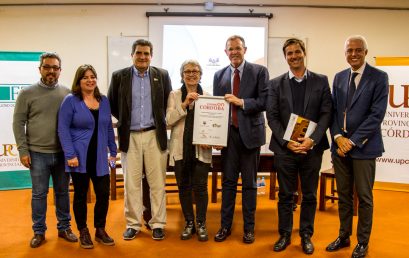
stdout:
{"type": "Polygon", "coordinates": [[[286,141],[300,142],[298,138],[310,137],[316,127],[317,123],[291,113],[283,139],[286,141]]]}

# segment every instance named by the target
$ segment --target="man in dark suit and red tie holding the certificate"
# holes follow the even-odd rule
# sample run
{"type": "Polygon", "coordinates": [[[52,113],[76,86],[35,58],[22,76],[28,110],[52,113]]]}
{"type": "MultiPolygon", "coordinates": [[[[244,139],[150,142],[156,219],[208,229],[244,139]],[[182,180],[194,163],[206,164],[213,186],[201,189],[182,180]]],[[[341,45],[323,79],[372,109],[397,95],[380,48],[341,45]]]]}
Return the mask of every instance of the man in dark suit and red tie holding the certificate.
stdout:
{"type": "Polygon", "coordinates": [[[231,234],[237,181],[241,173],[244,243],[254,242],[257,200],[257,169],[260,146],[265,143],[265,98],[268,71],[258,64],[244,60],[247,47],[241,36],[226,41],[225,53],[230,65],[214,75],[213,94],[224,96],[231,105],[227,147],[222,155],[221,228],[214,240],[222,242],[231,234]]]}

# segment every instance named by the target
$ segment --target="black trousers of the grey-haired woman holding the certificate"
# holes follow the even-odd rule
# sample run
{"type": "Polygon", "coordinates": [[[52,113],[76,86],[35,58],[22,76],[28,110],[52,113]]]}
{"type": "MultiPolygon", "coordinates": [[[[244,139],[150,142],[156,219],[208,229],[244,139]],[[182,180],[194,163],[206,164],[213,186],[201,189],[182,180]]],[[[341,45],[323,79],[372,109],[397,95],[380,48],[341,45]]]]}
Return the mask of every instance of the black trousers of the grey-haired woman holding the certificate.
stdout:
{"type": "Polygon", "coordinates": [[[194,221],[193,196],[196,202],[196,221],[205,222],[209,196],[207,180],[210,164],[201,161],[192,161],[192,171],[183,172],[183,161],[175,161],[175,177],[179,188],[179,200],[186,221],[194,221]]]}

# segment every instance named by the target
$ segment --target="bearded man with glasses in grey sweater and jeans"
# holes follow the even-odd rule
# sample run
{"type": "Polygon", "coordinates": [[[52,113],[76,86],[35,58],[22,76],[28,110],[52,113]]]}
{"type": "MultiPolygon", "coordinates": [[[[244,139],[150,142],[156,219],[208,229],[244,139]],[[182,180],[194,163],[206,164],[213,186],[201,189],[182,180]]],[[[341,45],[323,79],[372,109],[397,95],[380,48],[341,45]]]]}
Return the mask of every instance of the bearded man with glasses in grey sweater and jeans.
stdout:
{"type": "Polygon", "coordinates": [[[56,53],[43,53],[38,69],[41,80],[19,92],[13,117],[20,161],[30,169],[32,181],[32,248],[39,247],[45,241],[50,176],[54,187],[58,237],[69,242],[78,241],[70,225],[70,175],[65,173],[64,154],[57,135],[57,113],[70,91],[58,83],[61,59],[56,53]]]}

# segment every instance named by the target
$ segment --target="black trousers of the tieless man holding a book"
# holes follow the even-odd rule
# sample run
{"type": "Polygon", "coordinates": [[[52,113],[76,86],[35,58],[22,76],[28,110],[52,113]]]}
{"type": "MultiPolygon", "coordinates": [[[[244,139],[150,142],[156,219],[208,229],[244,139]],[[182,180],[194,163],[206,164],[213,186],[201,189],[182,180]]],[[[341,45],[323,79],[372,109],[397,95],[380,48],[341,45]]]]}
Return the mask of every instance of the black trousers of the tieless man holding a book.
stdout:
{"type": "Polygon", "coordinates": [[[288,150],[286,154],[274,157],[280,186],[278,192],[278,231],[280,235],[291,235],[293,229],[294,192],[297,191],[298,177],[302,191],[299,234],[300,236],[313,235],[322,154],[321,151],[310,150],[303,155],[288,150]]]}

